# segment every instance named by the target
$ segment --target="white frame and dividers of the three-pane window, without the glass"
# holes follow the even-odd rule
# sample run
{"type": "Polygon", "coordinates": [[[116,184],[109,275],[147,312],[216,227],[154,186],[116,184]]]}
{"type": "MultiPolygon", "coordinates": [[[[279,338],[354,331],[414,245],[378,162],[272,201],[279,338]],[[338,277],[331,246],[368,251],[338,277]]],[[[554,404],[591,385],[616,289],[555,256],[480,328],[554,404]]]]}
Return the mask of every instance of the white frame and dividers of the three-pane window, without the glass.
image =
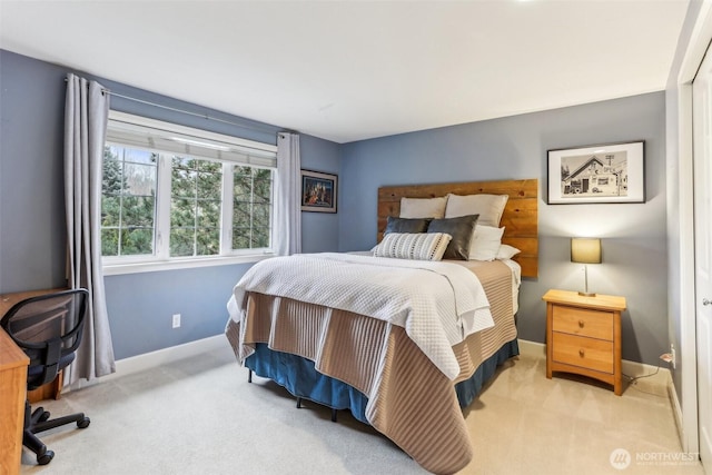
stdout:
{"type": "Polygon", "coordinates": [[[275,255],[274,249],[231,249],[233,227],[224,226],[233,220],[233,166],[246,165],[254,168],[273,169],[271,235],[275,229],[274,199],[276,185],[277,147],[225,136],[176,123],[134,116],[115,110],[109,111],[107,145],[156,150],[160,154],[156,192],[155,254],[150,256],[102,257],[105,275],[134,274],[144,271],[208,267],[230,264],[255,263],[275,255]],[[148,130],[146,144],[141,144],[140,132],[148,130]],[[123,131],[128,139],[121,140],[123,131]],[[136,133],[136,138],[132,136],[136,133]],[[117,138],[119,137],[119,138],[117,138]],[[166,141],[168,140],[168,141],[166,141]],[[196,152],[199,149],[201,152],[196,152]],[[212,156],[206,156],[211,155],[212,156]],[[170,257],[167,239],[170,236],[170,190],[171,164],[169,155],[194,156],[198,159],[215,159],[222,164],[222,206],[220,216],[220,255],[170,257]]]}

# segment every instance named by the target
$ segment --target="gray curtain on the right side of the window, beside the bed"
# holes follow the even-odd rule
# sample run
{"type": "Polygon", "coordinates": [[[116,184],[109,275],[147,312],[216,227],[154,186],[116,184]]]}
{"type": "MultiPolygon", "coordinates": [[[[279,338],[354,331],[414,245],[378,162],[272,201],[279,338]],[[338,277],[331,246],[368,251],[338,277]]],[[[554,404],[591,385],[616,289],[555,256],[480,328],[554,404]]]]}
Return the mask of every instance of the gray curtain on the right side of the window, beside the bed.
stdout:
{"type": "Polygon", "coordinates": [[[299,135],[277,135],[277,192],[275,215],[279,234],[275,249],[279,256],[301,253],[301,160],[299,135]]]}

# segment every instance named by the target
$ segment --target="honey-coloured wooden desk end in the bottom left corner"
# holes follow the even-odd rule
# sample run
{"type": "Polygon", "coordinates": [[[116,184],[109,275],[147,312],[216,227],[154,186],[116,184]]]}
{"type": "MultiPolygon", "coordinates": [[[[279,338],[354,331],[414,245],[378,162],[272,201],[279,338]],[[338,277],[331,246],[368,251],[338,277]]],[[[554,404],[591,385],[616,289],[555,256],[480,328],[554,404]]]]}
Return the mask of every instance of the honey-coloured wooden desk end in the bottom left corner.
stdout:
{"type": "Polygon", "coordinates": [[[27,396],[27,357],[0,328],[0,473],[18,474],[27,396]]]}

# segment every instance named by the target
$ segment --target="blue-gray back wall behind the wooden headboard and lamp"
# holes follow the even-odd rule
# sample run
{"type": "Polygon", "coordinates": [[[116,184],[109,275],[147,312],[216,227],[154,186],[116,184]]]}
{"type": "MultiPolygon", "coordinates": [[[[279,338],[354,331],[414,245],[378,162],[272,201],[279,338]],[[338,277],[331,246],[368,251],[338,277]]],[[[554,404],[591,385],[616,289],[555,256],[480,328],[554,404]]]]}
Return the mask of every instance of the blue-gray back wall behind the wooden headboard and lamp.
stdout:
{"type": "Polygon", "coordinates": [[[568,239],[596,236],[604,263],[589,266],[590,287],[627,298],[623,357],[657,365],[669,347],[664,137],[664,93],[656,92],[347,144],[339,250],[375,244],[379,186],[538,178],[540,276],[522,286],[520,337],[544,343],[544,293],[583,287],[568,239]],[[546,204],[548,149],[634,140],[645,140],[645,204],[546,204]]]}

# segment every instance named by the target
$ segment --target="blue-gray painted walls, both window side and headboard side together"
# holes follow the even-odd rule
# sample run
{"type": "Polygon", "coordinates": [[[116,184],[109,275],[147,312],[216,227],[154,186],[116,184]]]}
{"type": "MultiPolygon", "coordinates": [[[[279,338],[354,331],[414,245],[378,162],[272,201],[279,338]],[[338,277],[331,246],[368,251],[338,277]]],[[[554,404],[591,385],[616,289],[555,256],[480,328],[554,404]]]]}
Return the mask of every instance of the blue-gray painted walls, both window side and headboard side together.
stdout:
{"type": "MultiPolygon", "coordinates": [[[[63,285],[67,72],[61,66],[0,50],[0,293],[63,285]]],[[[279,130],[99,80],[115,92],[208,112],[241,127],[112,98],[117,110],[271,144],[279,130]]],[[[522,287],[520,336],[544,343],[542,295],[548,288],[583,285],[581,268],[568,261],[568,238],[600,236],[604,264],[590,266],[590,286],[627,297],[623,357],[657,364],[668,348],[664,120],[660,92],[346,145],[303,135],[303,167],[339,176],[338,214],[301,215],[303,250],[370,248],[376,191],[383,185],[538,178],[540,277],[522,287]],[[546,205],[547,149],[630,140],[645,140],[645,204],[546,205]]],[[[230,265],[106,277],[117,357],[220,334],[227,319],[225,303],[247,268],[230,265]],[[174,313],[182,315],[182,326],[176,330],[170,328],[174,313]]]]}

